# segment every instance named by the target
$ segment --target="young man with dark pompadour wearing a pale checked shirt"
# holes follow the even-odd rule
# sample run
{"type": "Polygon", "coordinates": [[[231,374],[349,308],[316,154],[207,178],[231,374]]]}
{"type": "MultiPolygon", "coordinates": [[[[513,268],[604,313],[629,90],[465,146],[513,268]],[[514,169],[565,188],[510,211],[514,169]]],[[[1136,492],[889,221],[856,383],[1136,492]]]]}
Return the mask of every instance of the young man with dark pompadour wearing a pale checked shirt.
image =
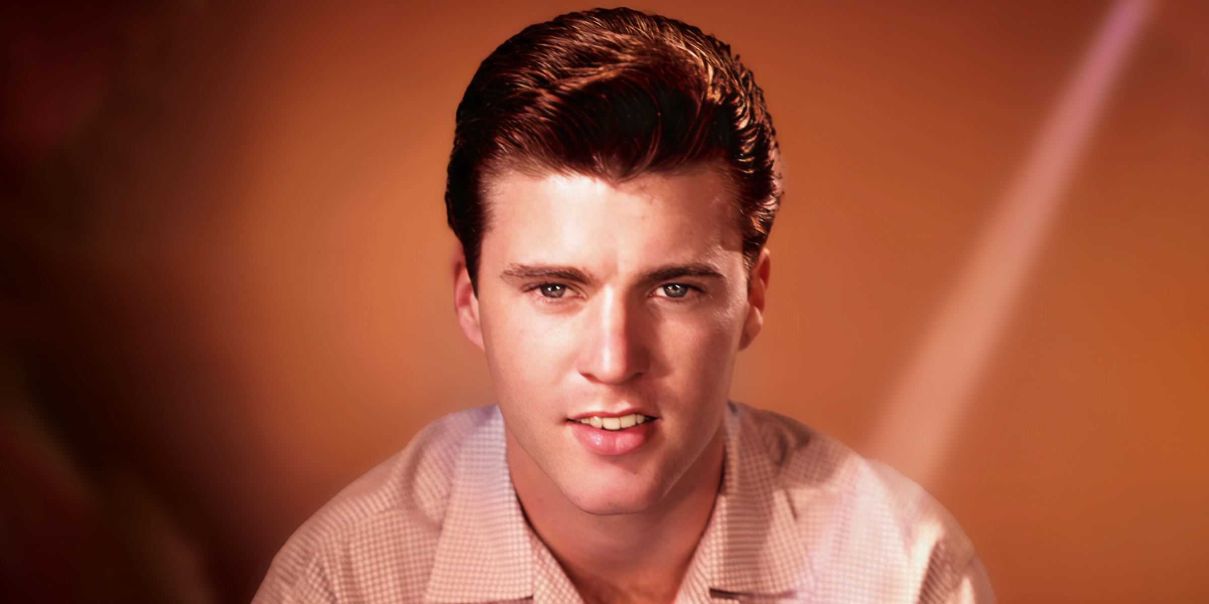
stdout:
{"type": "Polygon", "coordinates": [[[453,297],[498,406],[353,483],[256,602],[990,602],[892,470],[728,402],[781,194],[752,75],[625,8],[527,28],[457,111],[453,297]]]}

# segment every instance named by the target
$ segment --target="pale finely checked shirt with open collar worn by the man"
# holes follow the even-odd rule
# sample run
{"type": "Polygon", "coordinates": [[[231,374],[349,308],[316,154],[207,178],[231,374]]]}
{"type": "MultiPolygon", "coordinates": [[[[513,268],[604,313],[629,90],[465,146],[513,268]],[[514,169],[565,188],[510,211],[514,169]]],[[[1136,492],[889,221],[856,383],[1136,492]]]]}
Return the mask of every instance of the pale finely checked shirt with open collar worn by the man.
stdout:
{"type": "MultiPolygon", "coordinates": [[[[433,423],[290,538],[254,604],[580,604],[504,447],[496,406],[433,423]]],[[[724,459],[677,604],[995,600],[953,517],[887,466],[739,403],[724,459]]]]}

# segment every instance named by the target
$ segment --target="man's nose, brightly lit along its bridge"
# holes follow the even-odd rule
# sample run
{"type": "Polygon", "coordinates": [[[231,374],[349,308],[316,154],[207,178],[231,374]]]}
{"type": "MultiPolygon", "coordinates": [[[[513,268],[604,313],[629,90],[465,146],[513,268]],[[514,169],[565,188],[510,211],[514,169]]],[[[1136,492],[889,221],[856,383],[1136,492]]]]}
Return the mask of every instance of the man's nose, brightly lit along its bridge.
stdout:
{"type": "Polygon", "coordinates": [[[597,294],[586,320],[579,373],[604,384],[624,384],[647,371],[649,353],[641,333],[641,310],[620,292],[597,294]]]}

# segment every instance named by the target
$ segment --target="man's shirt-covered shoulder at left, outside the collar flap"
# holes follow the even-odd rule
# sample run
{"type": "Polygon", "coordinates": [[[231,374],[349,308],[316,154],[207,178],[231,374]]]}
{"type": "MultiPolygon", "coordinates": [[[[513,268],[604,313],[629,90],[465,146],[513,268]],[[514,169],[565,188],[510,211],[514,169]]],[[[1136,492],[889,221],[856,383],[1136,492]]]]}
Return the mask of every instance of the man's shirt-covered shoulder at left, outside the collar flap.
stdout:
{"type": "Polygon", "coordinates": [[[254,602],[334,602],[366,585],[422,592],[458,457],[496,416],[488,406],[438,419],[346,487],[290,536],[254,602]]]}

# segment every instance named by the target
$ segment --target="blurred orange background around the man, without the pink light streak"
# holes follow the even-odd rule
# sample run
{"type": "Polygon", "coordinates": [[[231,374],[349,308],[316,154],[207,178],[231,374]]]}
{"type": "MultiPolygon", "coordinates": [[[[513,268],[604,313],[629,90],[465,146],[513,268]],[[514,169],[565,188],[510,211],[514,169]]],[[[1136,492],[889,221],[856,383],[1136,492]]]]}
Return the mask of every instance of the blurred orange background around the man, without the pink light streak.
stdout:
{"type": "MultiPolygon", "coordinates": [[[[1107,5],[632,6],[729,42],[777,127],[734,397],[860,451],[1107,5]]],[[[244,602],[340,488],[491,402],[451,309],[453,109],[584,7],[0,8],[10,593],[244,602]]],[[[1168,1],[931,488],[1003,603],[1209,602],[1207,167],[1209,10],[1168,1]]]]}

